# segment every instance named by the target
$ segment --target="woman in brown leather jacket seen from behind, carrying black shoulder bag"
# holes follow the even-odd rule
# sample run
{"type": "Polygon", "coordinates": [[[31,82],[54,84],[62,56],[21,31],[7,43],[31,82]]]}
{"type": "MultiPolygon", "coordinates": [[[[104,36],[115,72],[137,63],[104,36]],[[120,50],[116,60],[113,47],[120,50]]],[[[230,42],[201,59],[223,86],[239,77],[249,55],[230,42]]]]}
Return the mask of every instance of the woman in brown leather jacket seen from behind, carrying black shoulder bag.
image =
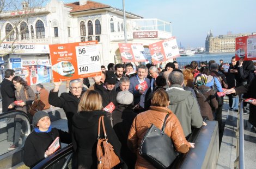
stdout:
{"type": "Polygon", "coordinates": [[[136,152],[137,154],[135,168],[155,168],[147,160],[143,159],[141,155],[139,155],[138,147],[151,124],[154,124],[156,127],[161,129],[167,113],[170,115],[166,120],[164,133],[173,140],[176,150],[180,153],[186,153],[190,147],[194,147],[193,143],[187,142],[179,120],[173,112],[167,108],[169,105],[169,96],[166,91],[163,89],[156,90],[151,103],[152,106],[150,106],[148,111],[139,113],[133,120],[128,136],[128,147],[131,151],[136,152]]]}

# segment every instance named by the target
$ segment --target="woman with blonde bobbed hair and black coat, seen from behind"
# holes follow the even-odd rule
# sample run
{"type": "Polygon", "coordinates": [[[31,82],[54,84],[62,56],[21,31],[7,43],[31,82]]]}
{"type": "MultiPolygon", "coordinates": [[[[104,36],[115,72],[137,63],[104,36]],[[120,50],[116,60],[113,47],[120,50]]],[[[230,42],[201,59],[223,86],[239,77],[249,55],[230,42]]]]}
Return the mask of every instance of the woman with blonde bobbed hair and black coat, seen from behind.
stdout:
{"type": "MultiPolygon", "coordinates": [[[[97,168],[97,131],[100,116],[106,116],[102,111],[102,98],[95,90],[85,92],[78,104],[78,113],[72,118],[72,142],[77,157],[78,167],[97,168]]],[[[104,118],[108,142],[114,148],[115,154],[120,158],[121,144],[111,127],[108,118],[104,118]]],[[[101,127],[101,138],[103,138],[101,127]]]]}

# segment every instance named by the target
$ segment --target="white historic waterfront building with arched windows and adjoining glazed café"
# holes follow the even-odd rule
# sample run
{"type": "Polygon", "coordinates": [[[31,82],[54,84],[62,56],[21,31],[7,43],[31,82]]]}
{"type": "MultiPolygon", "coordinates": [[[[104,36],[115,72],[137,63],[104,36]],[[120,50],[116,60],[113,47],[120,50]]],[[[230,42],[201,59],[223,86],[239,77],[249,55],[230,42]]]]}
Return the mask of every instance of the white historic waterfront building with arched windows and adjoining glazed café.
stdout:
{"type": "MultiPolygon", "coordinates": [[[[49,44],[97,40],[102,65],[121,62],[118,43],[124,43],[123,10],[89,0],[68,4],[51,0],[42,8],[28,6],[0,14],[1,40],[8,35],[0,45],[0,55],[5,55],[4,68],[26,74],[31,85],[51,77],[49,44]],[[15,44],[14,51],[11,43],[15,44]]],[[[144,19],[130,12],[126,12],[126,30],[127,43],[142,43],[146,53],[149,44],[172,37],[170,22],[144,19]]]]}

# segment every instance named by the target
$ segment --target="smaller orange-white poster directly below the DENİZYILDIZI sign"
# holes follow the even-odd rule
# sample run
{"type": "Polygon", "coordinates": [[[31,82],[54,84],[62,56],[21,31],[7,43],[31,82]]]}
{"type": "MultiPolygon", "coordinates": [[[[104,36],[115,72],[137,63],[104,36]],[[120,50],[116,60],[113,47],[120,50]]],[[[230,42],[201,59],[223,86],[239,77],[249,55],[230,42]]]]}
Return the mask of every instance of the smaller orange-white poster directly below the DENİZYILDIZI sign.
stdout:
{"type": "Polygon", "coordinates": [[[118,43],[123,62],[146,62],[147,55],[141,43],[118,43]]]}

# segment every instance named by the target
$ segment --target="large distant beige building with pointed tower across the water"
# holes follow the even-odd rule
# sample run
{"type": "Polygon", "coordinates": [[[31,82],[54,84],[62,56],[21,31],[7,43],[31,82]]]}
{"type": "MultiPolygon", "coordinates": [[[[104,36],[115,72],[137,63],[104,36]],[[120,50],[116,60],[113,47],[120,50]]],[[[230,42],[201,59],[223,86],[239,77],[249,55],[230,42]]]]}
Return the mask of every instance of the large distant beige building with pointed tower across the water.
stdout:
{"type": "Polygon", "coordinates": [[[208,33],[205,40],[205,51],[209,53],[235,52],[235,38],[251,34],[231,34],[214,37],[212,32],[208,33]]]}

